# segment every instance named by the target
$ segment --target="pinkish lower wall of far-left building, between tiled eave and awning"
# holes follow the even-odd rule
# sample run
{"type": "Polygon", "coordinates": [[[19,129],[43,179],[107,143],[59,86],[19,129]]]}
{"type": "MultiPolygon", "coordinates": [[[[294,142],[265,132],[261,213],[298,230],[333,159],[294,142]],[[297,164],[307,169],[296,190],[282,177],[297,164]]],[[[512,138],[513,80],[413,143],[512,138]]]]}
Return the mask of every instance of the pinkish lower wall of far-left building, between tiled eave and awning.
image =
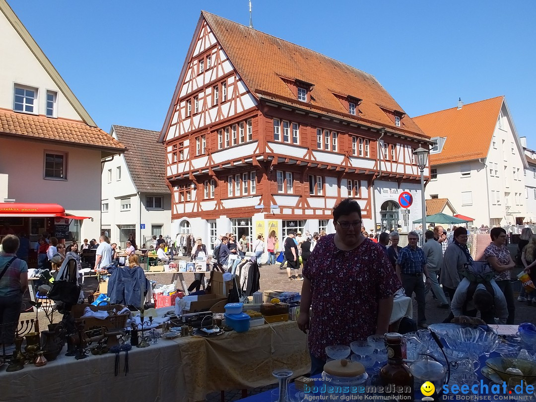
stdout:
{"type": "Polygon", "coordinates": [[[59,204],[67,213],[93,218],[82,221],[83,238],[100,234],[100,170],[100,151],[0,137],[0,172],[9,176],[8,198],[59,204]],[[67,180],[43,178],[45,150],[68,153],[67,180]]]}

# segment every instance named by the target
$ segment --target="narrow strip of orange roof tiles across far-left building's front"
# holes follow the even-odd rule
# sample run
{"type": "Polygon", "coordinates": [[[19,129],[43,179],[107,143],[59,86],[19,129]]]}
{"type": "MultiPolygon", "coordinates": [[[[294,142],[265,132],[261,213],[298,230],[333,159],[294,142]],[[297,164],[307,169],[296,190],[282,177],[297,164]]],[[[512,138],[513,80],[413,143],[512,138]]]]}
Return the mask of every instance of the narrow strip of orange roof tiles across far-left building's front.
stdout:
{"type": "Polygon", "coordinates": [[[16,113],[9,109],[0,109],[0,134],[87,145],[103,151],[125,151],[123,144],[98,127],[64,118],[16,113]]]}

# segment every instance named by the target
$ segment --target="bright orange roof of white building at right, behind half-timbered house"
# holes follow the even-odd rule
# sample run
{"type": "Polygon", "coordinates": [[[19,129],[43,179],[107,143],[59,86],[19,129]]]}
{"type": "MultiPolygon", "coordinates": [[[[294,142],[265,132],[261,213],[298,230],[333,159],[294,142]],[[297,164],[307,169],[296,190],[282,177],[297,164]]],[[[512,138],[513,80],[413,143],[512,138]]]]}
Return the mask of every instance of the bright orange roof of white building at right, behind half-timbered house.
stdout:
{"type": "Polygon", "coordinates": [[[414,117],[431,138],[446,137],[443,151],[430,154],[431,165],[486,158],[504,96],[414,117]]]}

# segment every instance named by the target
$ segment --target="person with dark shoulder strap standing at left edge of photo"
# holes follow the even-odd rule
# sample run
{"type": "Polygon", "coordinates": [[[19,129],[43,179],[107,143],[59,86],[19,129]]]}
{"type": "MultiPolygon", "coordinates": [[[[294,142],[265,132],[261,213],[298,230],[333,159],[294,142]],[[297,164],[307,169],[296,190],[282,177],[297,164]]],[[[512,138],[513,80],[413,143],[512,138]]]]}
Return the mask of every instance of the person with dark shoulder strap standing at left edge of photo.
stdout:
{"type": "Polygon", "coordinates": [[[0,344],[11,345],[28,288],[28,264],[17,258],[19,238],[6,235],[0,254],[0,344]]]}

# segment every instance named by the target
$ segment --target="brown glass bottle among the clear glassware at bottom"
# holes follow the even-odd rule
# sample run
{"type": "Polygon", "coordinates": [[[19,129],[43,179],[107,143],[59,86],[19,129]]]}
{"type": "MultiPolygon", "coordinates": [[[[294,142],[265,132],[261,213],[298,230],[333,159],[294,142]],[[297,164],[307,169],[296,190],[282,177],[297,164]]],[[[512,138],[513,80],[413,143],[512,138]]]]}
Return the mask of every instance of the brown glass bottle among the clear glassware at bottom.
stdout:
{"type": "Polygon", "coordinates": [[[404,345],[397,332],[385,334],[387,364],[379,370],[379,378],[384,386],[384,394],[398,396],[400,402],[413,401],[413,376],[403,360],[404,345]]]}

